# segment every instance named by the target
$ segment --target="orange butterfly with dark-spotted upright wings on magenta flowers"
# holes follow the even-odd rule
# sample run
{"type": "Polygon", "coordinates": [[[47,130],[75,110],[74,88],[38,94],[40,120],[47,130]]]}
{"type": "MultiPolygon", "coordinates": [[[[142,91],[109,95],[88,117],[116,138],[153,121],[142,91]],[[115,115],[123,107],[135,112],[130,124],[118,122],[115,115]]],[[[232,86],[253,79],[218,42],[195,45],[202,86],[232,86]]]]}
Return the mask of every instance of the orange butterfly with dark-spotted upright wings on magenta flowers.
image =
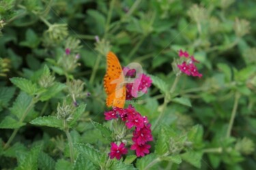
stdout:
{"type": "Polygon", "coordinates": [[[106,74],[104,89],[106,91],[106,106],[124,108],[126,101],[126,84],[124,73],[117,56],[113,52],[106,55],[106,74]]]}

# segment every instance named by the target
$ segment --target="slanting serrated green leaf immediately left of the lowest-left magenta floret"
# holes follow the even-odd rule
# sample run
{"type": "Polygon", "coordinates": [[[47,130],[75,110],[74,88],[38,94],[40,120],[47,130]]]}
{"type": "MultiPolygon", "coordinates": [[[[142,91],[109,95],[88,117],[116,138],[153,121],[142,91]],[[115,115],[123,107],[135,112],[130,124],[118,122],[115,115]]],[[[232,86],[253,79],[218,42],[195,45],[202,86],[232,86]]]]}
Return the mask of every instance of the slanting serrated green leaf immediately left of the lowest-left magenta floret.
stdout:
{"type": "Polygon", "coordinates": [[[95,150],[92,146],[84,143],[75,143],[74,147],[83,154],[88,160],[91,161],[97,167],[100,166],[100,156],[101,153],[98,150],[95,150]]]}

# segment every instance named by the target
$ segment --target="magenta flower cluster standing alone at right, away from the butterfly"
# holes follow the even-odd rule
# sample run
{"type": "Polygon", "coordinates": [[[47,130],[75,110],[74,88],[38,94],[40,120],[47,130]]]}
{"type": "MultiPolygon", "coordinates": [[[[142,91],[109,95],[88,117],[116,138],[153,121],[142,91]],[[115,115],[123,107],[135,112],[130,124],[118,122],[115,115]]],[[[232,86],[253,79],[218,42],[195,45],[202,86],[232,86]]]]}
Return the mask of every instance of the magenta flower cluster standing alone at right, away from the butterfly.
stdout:
{"type": "Polygon", "coordinates": [[[181,65],[177,65],[182,73],[199,78],[203,76],[198,72],[197,67],[195,66],[195,63],[199,63],[199,61],[197,61],[194,56],[190,56],[188,52],[182,50],[179,51],[179,56],[186,58],[186,61],[184,61],[181,65]]]}

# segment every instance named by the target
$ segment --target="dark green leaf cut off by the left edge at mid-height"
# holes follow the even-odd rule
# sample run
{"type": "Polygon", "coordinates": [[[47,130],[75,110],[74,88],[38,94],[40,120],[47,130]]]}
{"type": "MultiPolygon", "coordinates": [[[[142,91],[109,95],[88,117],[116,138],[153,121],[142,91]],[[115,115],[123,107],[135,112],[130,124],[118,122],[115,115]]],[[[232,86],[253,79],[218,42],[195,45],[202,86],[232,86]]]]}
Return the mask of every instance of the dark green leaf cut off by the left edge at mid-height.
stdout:
{"type": "Polygon", "coordinates": [[[2,107],[8,107],[9,101],[14,96],[14,87],[1,87],[0,88],[0,112],[2,107]]]}

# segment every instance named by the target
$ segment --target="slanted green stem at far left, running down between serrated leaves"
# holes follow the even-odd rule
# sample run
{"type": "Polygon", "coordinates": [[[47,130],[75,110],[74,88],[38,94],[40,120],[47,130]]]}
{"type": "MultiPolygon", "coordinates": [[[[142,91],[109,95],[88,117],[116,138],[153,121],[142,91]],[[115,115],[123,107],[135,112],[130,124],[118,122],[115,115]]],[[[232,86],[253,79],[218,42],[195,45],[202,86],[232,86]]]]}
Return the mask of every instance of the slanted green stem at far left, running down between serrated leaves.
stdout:
{"type": "MultiPolygon", "coordinates": [[[[27,109],[25,110],[25,112],[23,113],[23,116],[21,116],[20,120],[18,120],[19,123],[22,123],[23,120],[25,120],[27,114],[29,114],[30,110],[32,109],[33,105],[37,102],[38,97],[35,97],[34,99],[31,100],[31,102],[29,103],[29,106],[27,107],[27,109]]],[[[5,146],[3,147],[3,149],[8,148],[8,146],[10,146],[10,143],[12,143],[12,140],[14,139],[14,137],[16,136],[16,134],[18,133],[18,130],[20,128],[15,129],[12,132],[12,135],[10,136],[10,138],[8,139],[8,141],[5,143],[5,146]]]]}

